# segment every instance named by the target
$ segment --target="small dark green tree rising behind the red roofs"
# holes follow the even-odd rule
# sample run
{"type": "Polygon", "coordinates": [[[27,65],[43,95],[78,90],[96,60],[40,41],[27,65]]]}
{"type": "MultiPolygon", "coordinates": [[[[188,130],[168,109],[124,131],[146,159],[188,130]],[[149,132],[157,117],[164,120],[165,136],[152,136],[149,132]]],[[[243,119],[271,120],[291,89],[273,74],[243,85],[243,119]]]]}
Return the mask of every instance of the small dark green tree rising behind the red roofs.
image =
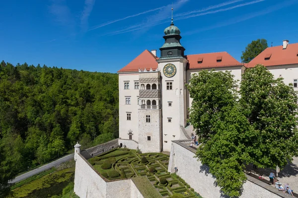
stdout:
{"type": "Polygon", "coordinates": [[[250,44],[247,45],[245,50],[242,51],[241,61],[244,63],[250,62],[266,48],[268,48],[266,39],[258,39],[256,41],[252,41],[250,44]]]}

